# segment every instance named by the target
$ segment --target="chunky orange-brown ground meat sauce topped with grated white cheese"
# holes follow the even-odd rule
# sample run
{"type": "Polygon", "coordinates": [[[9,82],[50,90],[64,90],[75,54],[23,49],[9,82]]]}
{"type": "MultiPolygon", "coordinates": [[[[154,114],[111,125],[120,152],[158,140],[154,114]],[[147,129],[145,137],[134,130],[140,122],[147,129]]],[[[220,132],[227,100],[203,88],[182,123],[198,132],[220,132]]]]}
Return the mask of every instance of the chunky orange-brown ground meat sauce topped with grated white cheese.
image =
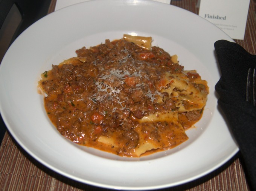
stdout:
{"type": "Polygon", "coordinates": [[[201,118],[202,109],[179,113],[184,128],[171,120],[145,121],[151,114],[178,110],[175,99],[156,89],[165,72],[183,71],[183,66],[172,62],[162,48],[146,50],[120,39],[83,47],[76,54],[78,57],[53,65],[40,81],[47,94],[44,102],[50,120],[71,141],[136,157],[134,151],[143,141],[141,134],[145,141],[162,144],[150,153],[170,149],[186,141],[184,128],[201,118]],[[112,142],[106,144],[104,137],[112,142]],[[166,139],[164,144],[161,139],[166,139]]]}

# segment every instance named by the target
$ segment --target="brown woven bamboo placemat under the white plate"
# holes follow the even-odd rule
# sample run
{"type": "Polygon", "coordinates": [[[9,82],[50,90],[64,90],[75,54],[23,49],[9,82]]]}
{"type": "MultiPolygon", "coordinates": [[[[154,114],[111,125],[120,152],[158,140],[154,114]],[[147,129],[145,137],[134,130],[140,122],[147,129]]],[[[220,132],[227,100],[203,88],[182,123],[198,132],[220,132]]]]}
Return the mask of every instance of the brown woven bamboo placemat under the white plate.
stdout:
{"type": "MultiPolygon", "coordinates": [[[[54,11],[52,1],[49,13],[54,11]]],[[[197,0],[172,0],[172,5],[198,14],[197,0]]],[[[256,54],[256,3],[251,0],[244,41],[235,40],[249,53],[256,54]]],[[[214,155],[214,153],[213,153],[214,155]]],[[[26,153],[7,131],[0,147],[0,190],[26,191],[107,191],[64,177],[40,164],[26,153]]],[[[240,153],[212,173],[192,182],[162,191],[249,191],[240,153]]]]}

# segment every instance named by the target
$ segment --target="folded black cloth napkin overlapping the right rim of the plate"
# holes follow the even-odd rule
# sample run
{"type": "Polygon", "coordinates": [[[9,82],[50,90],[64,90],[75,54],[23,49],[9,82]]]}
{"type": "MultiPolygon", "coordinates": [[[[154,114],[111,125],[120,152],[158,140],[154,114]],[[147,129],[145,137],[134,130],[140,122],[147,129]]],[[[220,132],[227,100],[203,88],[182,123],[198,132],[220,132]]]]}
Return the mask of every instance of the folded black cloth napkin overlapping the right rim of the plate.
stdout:
{"type": "Polygon", "coordinates": [[[256,107],[246,101],[247,72],[256,68],[256,55],[226,40],[216,41],[214,47],[221,71],[215,86],[218,105],[244,158],[248,183],[256,191],[256,107]]]}

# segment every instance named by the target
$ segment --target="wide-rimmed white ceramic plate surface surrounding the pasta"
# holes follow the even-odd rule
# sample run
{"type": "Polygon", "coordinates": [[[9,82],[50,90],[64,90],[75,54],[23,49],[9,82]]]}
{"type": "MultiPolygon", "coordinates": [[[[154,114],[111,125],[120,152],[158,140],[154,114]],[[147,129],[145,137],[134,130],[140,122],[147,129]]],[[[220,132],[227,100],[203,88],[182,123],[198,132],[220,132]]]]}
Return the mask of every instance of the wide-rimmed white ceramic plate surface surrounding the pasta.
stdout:
{"type": "Polygon", "coordinates": [[[204,176],[228,161],[238,147],[218,107],[214,86],[220,74],[214,42],[233,41],[213,24],[184,9],[146,0],[93,0],[42,18],[11,45],[0,65],[0,112],[15,140],[52,170],[90,185],[156,189],[204,176]],[[47,118],[38,93],[40,74],[76,56],[83,46],[135,33],[177,54],[185,69],[197,69],[210,94],[197,128],[180,146],[142,158],[122,158],[78,146],[47,118]]]}

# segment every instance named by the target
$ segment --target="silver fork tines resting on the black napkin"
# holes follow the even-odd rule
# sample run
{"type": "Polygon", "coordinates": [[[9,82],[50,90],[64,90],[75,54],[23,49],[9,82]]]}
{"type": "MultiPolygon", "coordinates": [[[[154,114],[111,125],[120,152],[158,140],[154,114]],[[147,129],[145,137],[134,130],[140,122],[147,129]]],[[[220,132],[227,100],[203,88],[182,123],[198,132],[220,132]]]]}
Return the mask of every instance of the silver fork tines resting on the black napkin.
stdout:
{"type": "Polygon", "coordinates": [[[256,69],[248,69],[246,84],[246,101],[256,106],[256,69]]]}

